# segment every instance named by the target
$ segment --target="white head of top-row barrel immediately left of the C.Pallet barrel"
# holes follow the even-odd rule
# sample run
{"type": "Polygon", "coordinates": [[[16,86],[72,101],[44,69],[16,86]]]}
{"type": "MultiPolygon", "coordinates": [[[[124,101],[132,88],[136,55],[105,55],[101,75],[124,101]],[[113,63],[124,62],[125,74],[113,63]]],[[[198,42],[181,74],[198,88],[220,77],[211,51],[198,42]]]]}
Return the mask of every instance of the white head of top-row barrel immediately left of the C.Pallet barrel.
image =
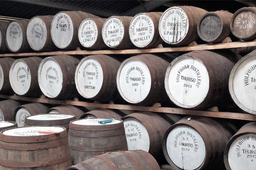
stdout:
{"type": "Polygon", "coordinates": [[[74,28],[70,16],[64,12],[56,14],[51,25],[51,36],[54,44],[58,48],[66,48],[70,45],[73,34],[74,28]]]}

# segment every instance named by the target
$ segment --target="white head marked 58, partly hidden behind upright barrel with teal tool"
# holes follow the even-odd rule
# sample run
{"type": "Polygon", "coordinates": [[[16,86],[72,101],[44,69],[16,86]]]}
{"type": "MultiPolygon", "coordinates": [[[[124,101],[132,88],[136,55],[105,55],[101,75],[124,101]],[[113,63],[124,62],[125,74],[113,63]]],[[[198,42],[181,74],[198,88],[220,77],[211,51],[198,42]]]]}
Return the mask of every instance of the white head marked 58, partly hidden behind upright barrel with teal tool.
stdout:
{"type": "Polygon", "coordinates": [[[128,150],[145,150],[148,152],[150,142],[145,126],[135,118],[125,119],[124,126],[128,150]]]}

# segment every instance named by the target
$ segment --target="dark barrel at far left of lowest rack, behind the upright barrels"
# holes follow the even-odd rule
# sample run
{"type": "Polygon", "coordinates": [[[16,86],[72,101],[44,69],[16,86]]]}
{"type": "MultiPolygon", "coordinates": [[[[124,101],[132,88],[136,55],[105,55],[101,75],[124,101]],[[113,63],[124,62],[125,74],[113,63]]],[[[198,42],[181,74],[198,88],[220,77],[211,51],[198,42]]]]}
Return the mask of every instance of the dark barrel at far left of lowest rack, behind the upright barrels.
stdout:
{"type": "Polygon", "coordinates": [[[20,103],[7,99],[0,101],[0,120],[15,121],[16,109],[20,106],[20,103]]]}

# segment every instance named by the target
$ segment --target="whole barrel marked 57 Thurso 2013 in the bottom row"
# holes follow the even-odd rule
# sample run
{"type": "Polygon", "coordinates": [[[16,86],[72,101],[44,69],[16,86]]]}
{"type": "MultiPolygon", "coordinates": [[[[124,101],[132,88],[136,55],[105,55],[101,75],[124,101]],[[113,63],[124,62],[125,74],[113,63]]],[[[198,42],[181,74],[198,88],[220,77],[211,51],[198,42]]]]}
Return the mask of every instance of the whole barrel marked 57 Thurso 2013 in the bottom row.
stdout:
{"type": "Polygon", "coordinates": [[[213,118],[187,116],[166,131],[164,156],[175,170],[221,169],[224,148],[236,130],[213,118]]]}

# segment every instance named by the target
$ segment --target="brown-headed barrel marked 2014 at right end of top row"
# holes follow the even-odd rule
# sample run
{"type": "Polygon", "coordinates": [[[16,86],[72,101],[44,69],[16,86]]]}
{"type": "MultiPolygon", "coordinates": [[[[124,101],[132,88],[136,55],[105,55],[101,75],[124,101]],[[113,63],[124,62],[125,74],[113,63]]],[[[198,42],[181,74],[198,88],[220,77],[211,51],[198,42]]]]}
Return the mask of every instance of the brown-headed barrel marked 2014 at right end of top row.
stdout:
{"type": "Polygon", "coordinates": [[[241,40],[256,39],[256,7],[244,7],[237,10],[230,22],[230,30],[241,40]]]}

